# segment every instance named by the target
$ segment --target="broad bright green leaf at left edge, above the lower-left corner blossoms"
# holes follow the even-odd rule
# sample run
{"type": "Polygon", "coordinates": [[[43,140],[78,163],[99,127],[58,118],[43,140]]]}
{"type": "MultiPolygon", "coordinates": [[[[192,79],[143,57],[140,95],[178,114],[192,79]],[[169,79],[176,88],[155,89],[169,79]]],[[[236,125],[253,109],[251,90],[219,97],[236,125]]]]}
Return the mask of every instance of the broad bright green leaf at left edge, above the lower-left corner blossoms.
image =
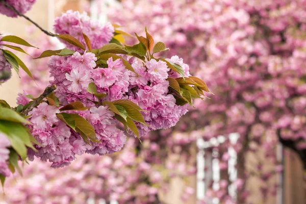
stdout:
{"type": "Polygon", "coordinates": [[[25,145],[34,148],[29,138],[28,130],[20,123],[0,120],[0,132],[7,135],[11,146],[17,151],[22,160],[27,157],[27,147],[25,145]]]}

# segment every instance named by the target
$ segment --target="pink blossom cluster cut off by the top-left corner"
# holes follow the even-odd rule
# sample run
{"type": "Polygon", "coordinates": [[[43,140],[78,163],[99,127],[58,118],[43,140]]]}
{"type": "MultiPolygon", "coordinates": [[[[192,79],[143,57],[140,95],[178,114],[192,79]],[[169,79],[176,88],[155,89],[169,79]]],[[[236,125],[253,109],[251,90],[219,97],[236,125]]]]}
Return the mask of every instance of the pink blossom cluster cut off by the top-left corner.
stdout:
{"type": "MultiPolygon", "coordinates": [[[[5,2],[14,7],[18,12],[24,14],[32,8],[36,0],[6,0],[5,2]]],[[[7,8],[2,3],[0,3],[0,13],[14,18],[18,16],[14,11],[7,8]]]]}

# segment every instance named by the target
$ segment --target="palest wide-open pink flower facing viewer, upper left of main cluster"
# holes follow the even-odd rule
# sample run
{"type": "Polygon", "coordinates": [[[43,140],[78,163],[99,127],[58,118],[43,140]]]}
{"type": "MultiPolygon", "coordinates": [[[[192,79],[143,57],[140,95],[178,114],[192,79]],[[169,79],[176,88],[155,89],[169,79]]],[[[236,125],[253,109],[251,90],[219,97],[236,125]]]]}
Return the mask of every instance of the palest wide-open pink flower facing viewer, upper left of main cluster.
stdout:
{"type": "Polygon", "coordinates": [[[79,93],[83,90],[87,90],[89,83],[91,82],[90,75],[85,71],[78,71],[73,69],[70,74],[66,73],[66,79],[64,82],[67,89],[73,93],[79,93]]]}

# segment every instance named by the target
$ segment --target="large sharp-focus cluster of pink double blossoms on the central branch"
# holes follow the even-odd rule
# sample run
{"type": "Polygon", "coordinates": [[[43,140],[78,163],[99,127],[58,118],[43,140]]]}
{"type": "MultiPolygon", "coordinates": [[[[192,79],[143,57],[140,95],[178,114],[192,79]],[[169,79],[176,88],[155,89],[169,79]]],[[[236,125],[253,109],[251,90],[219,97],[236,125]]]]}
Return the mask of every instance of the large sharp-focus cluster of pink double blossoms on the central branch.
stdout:
{"type": "MultiPolygon", "coordinates": [[[[103,100],[130,99],[149,111],[143,115],[150,127],[139,123],[140,137],[151,130],[175,125],[187,112],[187,105],[176,105],[174,96],[168,94],[169,82],[166,79],[170,71],[165,62],[152,59],[145,64],[146,70],[135,59],[129,59],[138,73],[136,75],[125,69],[121,59],[107,60],[108,68],[96,68],[95,60],[93,53],[81,55],[75,52],[71,57],[53,56],[48,62],[51,77],[54,77],[50,84],[57,85],[55,94],[60,103],[64,106],[82,101],[86,107],[91,107],[90,110],[74,112],[87,119],[96,130],[97,140],[103,141],[86,144],[80,135],[71,134],[72,131],[57,118],[59,108],[40,104],[29,113],[32,115],[30,121],[34,124],[32,134],[45,145],[38,147],[39,152],[35,155],[53,162],[54,167],[70,163],[75,154],[87,152],[104,155],[119,151],[125,143],[126,136],[116,127],[114,113],[105,106],[95,107],[93,101],[98,101],[98,98],[87,91],[90,83],[96,85],[98,92],[107,94],[103,100]],[[147,85],[148,82],[150,85],[147,85]]],[[[177,57],[172,60],[182,62],[177,57]]]]}

